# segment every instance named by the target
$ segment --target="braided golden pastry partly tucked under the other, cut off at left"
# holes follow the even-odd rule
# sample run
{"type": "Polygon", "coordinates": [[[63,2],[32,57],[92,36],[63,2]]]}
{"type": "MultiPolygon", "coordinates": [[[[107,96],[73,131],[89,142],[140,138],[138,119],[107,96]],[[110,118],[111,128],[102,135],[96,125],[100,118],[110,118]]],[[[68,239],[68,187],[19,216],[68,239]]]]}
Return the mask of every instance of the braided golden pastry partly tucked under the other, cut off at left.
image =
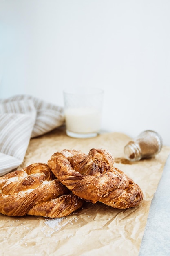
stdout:
{"type": "Polygon", "coordinates": [[[0,177],[0,213],[8,216],[68,216],[83,200],[53,175],[47,164],[35,163],[0,177]]]}

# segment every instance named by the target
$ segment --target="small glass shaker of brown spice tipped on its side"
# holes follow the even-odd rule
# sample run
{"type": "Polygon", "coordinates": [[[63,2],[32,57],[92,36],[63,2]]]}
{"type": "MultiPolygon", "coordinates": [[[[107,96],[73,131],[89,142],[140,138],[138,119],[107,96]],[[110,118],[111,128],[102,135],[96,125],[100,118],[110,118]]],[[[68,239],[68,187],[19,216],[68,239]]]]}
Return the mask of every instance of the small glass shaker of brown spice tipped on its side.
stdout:
{"type": "Polygon", "coordinates": [[[161,136],[152,130],[141,132],[124,147],[124,154],[129,161],[139,161],[150,158],[161,151],[163,141],[161,136]]]}

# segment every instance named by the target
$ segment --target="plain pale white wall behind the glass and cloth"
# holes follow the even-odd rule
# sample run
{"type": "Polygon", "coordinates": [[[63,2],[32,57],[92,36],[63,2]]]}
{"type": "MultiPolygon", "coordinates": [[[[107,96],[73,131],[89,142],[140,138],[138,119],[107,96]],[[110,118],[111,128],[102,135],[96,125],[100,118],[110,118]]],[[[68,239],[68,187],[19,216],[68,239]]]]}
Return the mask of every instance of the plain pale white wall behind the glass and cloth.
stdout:
{"type": "Polygon", "coordinates": [[[170,146],[169,0],[0,0],[0,98],[105,91],[102,129],[170,146]]]}

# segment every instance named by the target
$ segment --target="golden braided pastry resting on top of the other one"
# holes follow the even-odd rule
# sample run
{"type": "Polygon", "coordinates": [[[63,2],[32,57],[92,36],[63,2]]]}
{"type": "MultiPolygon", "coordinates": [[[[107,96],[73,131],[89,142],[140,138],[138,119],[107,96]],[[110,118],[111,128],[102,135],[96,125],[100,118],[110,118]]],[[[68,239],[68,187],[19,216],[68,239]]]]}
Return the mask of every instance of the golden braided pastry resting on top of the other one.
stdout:
{"type": "Polygon", "coordinates": [[[47,164],[62,184],[86,201],[120,209],[135,207],[143,193],[133,180],[113,167],[114,160],[107,150],[93,148],[88,155],[77,150],[56,152],[47,164]]]}

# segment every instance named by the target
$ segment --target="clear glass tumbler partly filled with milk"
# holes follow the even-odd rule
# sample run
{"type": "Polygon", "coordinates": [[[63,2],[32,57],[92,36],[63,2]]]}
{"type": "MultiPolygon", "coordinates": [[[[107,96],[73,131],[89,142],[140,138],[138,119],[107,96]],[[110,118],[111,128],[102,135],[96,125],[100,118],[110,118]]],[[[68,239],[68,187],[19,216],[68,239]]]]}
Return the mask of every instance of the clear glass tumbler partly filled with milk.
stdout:
{"type": "Polygon", "coordinates": [[[98,88],[64,90],[64,114],[68,136],[97,136],[101,128],[103,96],[104,91],[98,88]]]}

